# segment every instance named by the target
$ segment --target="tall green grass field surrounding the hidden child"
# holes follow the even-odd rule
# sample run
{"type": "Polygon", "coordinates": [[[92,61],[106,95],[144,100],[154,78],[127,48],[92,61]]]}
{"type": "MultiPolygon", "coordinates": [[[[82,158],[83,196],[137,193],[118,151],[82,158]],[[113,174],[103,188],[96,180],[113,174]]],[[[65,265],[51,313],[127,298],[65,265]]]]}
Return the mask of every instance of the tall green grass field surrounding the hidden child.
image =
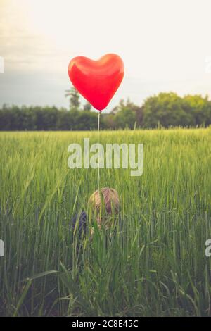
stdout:
{"type": "MultiPolygon", "coordinates": [[[[211,316],[211,130],[101,132],[144,144],[144,170],[102,169],[122,231],[78,251],[69,230],[98,170],[68,168],[68,145],[97,132],[1,132],[1,316],[211,316]]],[[[112,235],[112,234],[111,234],[112,235]]]]}

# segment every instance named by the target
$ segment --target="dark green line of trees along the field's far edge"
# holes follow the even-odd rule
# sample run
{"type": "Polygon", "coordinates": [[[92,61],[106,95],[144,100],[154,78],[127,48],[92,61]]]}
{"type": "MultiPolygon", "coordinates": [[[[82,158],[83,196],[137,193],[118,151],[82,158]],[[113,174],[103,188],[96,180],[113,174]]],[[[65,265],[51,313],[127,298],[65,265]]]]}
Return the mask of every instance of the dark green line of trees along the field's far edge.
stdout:
{"type": "MultiPolygon", "coordinates": [[[[8,106],[0,109],[0,130],[96,130],[96,111],[87,102],[83,106],[78,92],[65,92],[70,108],[56,106],[8,106]]],[[[120,100],[110,113],[102,113],[101,128],[198,127],[211,125],[211,101],[208,96],[160,93],[148,97],[142,106],[120,100]]]]}

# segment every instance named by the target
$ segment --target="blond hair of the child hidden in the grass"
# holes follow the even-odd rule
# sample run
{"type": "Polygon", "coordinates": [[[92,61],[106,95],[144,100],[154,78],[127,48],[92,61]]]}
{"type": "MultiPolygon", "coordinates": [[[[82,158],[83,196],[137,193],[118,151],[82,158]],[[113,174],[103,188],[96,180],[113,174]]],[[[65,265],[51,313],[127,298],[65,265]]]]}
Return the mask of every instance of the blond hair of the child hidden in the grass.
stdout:
{"type": "Polygon", "coordinates": [[[93,194],[91,194],[88,204],[93,207],[97,213],[100,213],[103,205],[105,205],[106,213],[118,213],[120,208],[118,192],[115,189],[103,187],[103,189],[101,189],[101,193],[96,190],[93,194]],[[103,201],[101,197],[103,198],[103,201]]]}

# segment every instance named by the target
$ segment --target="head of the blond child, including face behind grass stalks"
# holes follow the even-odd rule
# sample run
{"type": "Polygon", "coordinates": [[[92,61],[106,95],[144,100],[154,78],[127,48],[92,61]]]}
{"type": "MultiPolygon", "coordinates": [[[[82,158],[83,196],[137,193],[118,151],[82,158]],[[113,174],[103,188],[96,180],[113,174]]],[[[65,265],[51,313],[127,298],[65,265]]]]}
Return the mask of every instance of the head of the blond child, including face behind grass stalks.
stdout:
{"type": "Polygon", "coordinates": [[[113,216],[119,212],[120,201],[118,193],[115,189],[103,187],[101,192],[97,190],[91,194],[89,206],[94,209],[98,225],[101,225],[107,216],[113,216]]]}

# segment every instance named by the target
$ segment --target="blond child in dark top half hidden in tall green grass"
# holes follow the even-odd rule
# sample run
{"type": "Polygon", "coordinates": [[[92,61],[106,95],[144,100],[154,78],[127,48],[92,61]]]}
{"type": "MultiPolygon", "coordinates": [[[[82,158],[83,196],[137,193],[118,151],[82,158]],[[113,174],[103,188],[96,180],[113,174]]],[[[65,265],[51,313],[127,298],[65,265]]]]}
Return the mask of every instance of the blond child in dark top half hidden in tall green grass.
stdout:
{"type": "MultiPolygon", "coordinates": [[[[94,213],[98,228],[105,227],[108,229],[114,224],[114,216],[117,216],[120,208],[120,201],[118,193],[115,189],[104,187],[99,192],[98,190],[91,194],[88,205],[90,211],[94,213]]],[[[75,232],[75,227],[78,226],[79,235],[86,233],[87,231],[87,213],[82,211],[80,215],[72,218],[72,227],[75,232]]],[[[94,234],[94,230],[91,229],[91,237],[94,234]]]]}

